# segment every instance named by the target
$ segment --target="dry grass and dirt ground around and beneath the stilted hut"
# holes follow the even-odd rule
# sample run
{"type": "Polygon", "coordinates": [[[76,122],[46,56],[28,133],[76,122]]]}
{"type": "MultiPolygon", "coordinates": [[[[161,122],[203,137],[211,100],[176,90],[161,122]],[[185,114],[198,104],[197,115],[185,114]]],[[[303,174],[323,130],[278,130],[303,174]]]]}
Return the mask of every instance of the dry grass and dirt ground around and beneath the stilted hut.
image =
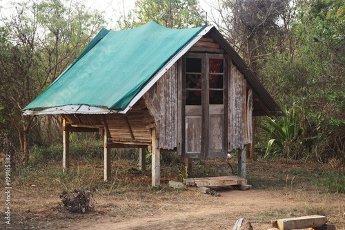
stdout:
{"type": "MultiPolygon", "coordinates": [[[[193,175],[230,175],[226,161],[225,158],[195,161],[193,175]]],[[[232,229],[241,217],[250,220],[255,229],[267,229],[270,220],[311,214],[326,215],[337,229],[345,229],[342,217],[345,194],[328,193],[314,182],[320,171],[335,171],[327,165],[294,161],[248,162],[247,179],[253,191],[229,193],[223,189],[219,193],[224,195],[215,198],[168,188],[168,181],[179,180],[184,169],[183,161],[177,157],[162,164],[159,189],[150,187],[150,170],[144,173],[135,170],[136,160],[115,158],[112,182],[103,182],[101,160],[83,164],[73,161],[68,173],[61,171],[60,164],[51,162],[29,167],[21,171],[20,180],[19,174],[16,175],[11,202],[14,229],[83,229],[85,224],[90,226],[110,220],[114,224],[137,222],[129,229],[232,229]],[[74,189],[92,191],[96,198],[95,211],[75,214],[54,209],[59,204],[58,194],[74,189]],[[246,195],[248,193],[253,197],[246,195]]],[[[237,169],[235,160],[230,164],[237,169]]],[[[338,168],[339,171],[344,168],[338,168]]],[[[1,192],[0,200],[4,199],[1,192]]]]}

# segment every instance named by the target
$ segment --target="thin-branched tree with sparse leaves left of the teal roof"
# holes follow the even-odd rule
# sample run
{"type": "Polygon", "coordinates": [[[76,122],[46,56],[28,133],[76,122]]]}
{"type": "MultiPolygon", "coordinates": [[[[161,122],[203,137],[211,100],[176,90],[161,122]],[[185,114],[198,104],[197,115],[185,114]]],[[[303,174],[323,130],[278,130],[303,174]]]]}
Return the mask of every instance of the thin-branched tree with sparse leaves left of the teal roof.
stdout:
{"type": "Polygon", "coordinates": [[[104,21],[77,1],[28,1],[14,9],[1,33],[0,104],[17,128],[26,165],[34,117],[21,110],[75,60],[104,21]]]}

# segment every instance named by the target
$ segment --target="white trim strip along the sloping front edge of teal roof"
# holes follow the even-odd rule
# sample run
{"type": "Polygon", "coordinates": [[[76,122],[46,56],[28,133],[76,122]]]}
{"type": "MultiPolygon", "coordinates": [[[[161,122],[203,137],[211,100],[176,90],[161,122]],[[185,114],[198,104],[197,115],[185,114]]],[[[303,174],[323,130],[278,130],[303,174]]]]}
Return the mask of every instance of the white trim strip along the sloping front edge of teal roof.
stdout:
{"type": "Polygon", "coordinates": [[[168,63],[165,66],[163,66],[161,70],[159,70],[159,72],[156,73],[154,77],[152,77],[152,79],[150,79],[150,82],[148,82],[146,86],[143,89],[141,89],[139,93],[137,93],[137,95],[135,95],[135,97],[130,101],[130,104],[128,104],[124,111],[119,111],[118,113],[127,113],[128,110],[130,110],[130,108],[132,108],[132,106],[134,106],[134,104],[137,103],[137,101],[161,78],[161,76],[163,76],[164,73],[166,73],[166,71],[190,49],[190,47],[197,43],[197,41],[199,41],[201,37],[206,35],[211,28],[213,28],[213,26],[208,26],[204,28],[204,30],[201,30],[197,36],[195,36],[192,40],[188,42],[188,44],[186,44],[186,46],[184,46],[184,48],[179,50],[179,52],[177,52],[177,54],[174,57],[172,57],[172,59],[170,59],[170,61],[168,61],[168,63]]]}

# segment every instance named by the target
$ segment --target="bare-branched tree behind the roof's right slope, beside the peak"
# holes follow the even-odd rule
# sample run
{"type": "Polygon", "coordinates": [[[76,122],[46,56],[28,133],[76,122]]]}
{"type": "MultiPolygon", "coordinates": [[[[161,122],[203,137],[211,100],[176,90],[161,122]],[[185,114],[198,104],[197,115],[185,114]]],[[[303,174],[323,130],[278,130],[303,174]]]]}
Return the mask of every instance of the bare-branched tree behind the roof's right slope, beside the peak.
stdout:
{"type": "Polygon", "coordinates": [[[242,55],[251,70],[284,43],[290,15],[288,0],[218,0],[211,20],[242,55]]]}

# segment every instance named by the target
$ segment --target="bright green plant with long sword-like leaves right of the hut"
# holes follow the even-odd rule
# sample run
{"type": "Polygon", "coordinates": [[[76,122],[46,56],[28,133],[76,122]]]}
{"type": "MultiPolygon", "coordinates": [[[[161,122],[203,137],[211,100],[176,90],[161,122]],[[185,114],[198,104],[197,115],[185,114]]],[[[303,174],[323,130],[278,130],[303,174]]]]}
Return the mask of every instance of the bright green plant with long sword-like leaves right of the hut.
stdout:
{"type": "Polygon", "coordinates": [[[273,139],[268,141],[264,158],[270,153],[273,143],[279,146],[279,150],[275,151],[275,153],[282,153],[283,151],[288,157],[291,147],[297,144],[299,137],[304,131],[304,128],[297,124],[297,115],[293,107],[288,111],[285,106],[282,108],[282,111],[286,114],[286,117],[282,117],[282,124],[277,119],[265,116],[270,127],[264,124],[261,125],[262,129],[273,137],[273,139]]]}

